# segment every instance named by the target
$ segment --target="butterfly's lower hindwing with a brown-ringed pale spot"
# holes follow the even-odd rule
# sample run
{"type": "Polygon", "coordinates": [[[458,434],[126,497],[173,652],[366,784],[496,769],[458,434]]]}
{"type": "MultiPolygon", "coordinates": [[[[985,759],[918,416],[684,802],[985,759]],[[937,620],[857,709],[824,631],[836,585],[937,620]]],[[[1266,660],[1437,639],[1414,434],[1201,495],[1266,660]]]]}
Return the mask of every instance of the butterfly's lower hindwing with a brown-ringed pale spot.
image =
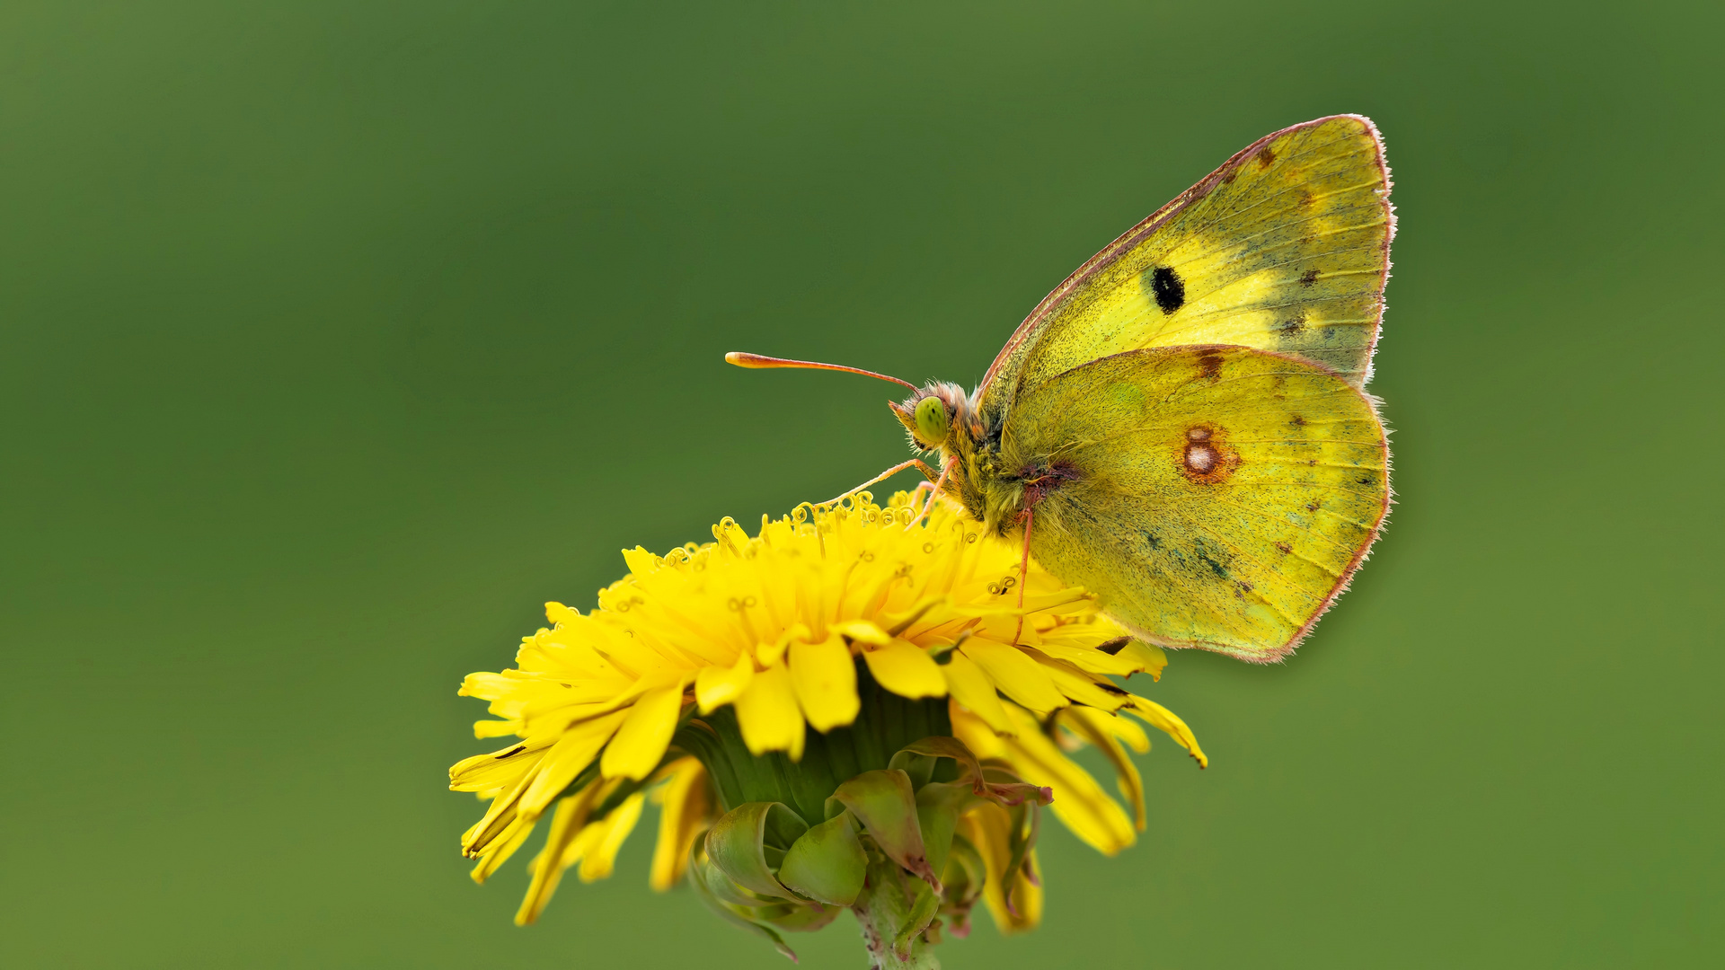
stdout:
{"type": "Polygon", "coordinates": [[[1292,651],[1389,506],[1371,400],[1247,347],[1135,350],[1042,381],[1000,461],[1044,469],[1038,563],[1151,642],[1252,661],[1292,651]]]}

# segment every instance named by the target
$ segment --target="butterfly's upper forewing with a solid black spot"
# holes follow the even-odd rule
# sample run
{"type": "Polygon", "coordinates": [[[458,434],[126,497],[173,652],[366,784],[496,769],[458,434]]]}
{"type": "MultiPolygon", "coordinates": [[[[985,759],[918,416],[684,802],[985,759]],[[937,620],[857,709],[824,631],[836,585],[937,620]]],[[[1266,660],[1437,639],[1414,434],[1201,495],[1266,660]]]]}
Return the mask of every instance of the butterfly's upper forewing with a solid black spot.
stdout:
{"type": "Polygon", "coordinates": [[[1049,293],[983,378],[983,409],[1097,357],[1197,343],[1294,354],[1363,387],[1389,276],[1389,188],[1364,117],[1251,145],[1049,293]]]}

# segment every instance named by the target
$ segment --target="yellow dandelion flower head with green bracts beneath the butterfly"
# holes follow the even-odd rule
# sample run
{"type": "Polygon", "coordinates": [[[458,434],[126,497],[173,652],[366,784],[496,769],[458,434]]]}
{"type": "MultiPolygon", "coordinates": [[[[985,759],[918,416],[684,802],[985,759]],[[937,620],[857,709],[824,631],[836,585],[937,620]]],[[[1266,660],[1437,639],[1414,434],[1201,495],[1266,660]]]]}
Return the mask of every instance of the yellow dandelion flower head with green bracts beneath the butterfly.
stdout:
{"type": "Polygon", "coordinates": [[[650,882],[685,877],[724,920],[771,941],[852,910],[876,967],[933,967],[980,901],[1004,930],[1042,911],[1037,818],[1114,854],[1144,830],[1137,721],[1204,765],[1187,725],[1114,678],[1166,663],[944,501],[897,494],[735,521],[630,575],[581,614],[545,608],[516,666],[474,673],[481,739],[450,768],[490,801],[461,839],[483,882],[549,815],[531,923],[569,868],[611,875],[649,799],[650,882]],[[1135,718],[1135,720],[1133,720],[1135,718]],[[1121,808],[1068,753],[1113,765],[1121,808]]]}

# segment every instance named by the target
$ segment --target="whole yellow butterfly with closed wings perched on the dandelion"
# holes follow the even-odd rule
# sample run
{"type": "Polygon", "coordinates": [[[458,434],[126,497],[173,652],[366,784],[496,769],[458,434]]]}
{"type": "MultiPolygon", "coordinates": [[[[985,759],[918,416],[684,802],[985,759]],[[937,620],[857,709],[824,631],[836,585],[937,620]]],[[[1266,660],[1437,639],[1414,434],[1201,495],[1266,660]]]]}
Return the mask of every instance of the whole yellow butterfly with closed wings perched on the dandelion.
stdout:
{"type": "Polygon", "coordinates": [[[942,468],[892,471],[921,466],[1147,642],[1275,661],[1389,509],[1383,423],[1361,390],[1389,190],[1370,119],[1276,131],[1080,266],[968,395],[726,359],[911,387],[892,409],[942,468]]]}

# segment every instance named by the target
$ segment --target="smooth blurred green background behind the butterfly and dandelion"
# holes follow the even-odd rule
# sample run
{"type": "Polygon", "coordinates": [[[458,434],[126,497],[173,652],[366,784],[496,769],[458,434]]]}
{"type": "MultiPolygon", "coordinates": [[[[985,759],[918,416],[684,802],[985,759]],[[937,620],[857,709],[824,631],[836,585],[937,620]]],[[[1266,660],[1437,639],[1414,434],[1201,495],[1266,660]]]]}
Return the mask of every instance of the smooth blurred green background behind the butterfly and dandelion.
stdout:
{"type": "Polygon", "coordinates": [[[1213,768],[1159,744],[1137,847],[1045,828],[1044,929],[942,958],[1720,960],[1716,7],[0,7],[5,965],[776,967],[647,830],[512,927],[459,678],[904,456],[890,388],[723,352],[971,383],[1344,110],[1397,178],[1389,532],[1294,661],[1176,654],[1213,768]]]}

